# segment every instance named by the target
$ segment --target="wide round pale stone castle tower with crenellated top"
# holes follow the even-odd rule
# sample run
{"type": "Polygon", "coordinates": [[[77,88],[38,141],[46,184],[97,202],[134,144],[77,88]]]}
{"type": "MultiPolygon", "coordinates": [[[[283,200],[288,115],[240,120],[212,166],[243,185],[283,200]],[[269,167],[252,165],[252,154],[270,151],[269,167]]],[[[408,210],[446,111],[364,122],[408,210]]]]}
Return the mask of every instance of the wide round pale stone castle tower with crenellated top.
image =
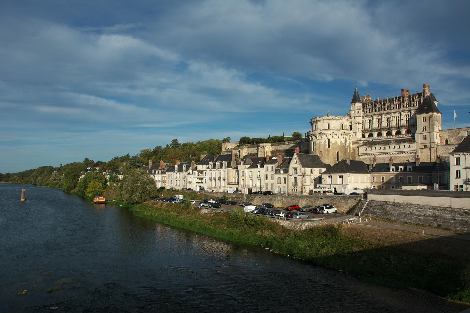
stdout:
{"type": "Polygon", "coordinates": [[[314,117],[310,120],[312,130],[307,133],[310,154],[318,154],[323,163],[333,165],[339,160],[355,160],[352,148],[353,132],[349,130],[347,116],[314,117]]]}

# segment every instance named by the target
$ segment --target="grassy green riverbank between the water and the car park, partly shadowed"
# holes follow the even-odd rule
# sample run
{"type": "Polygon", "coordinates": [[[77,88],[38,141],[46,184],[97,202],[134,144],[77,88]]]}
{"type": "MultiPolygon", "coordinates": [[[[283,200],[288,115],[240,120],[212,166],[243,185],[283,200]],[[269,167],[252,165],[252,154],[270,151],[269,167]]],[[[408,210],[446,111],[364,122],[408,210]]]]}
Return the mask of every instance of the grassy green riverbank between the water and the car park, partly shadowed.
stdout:
{"type": "MultiPolygon", "coordinates": [[[[116,203],[120,206],[123,203],[116,203]]],[[[123,204],[137,216],[243,244],[256,244],[292,258],[341,270],[363,282],[392,288],[417,288],[457,302],[470,303],[470,291],[462,284],[468,258],[452,252],[428,252],[387,242],[371,241],[348,232],[342,225],[293,231],[264,217],[244,216],[241,211],[205,213],[181,205],[148,202],[123,204]]],[[[424,237],[432,245],[437,239],[424,237]]],[[[452,239],[458,240],[458,239],[452,239]]],[[[463,243],[462,243],[463,244],[463,243]]],[[[469,247],[460,246],[462,250],[469,247]]]]}

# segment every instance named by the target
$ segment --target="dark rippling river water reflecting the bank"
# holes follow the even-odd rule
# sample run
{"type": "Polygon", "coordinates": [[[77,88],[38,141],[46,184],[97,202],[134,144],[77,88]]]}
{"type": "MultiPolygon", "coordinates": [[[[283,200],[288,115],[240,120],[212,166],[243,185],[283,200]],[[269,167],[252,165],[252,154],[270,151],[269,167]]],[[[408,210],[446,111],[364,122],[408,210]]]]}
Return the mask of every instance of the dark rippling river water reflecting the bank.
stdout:
{"type": "Polygon", "coordinates": [[[418,290],[173,228],[61,190],[0,184],[1,312],[460,312],[418,290]],[[20,201],[21,188],[26,202],[20,201]],[[48,272],[51,275],[46,275],[48,272]],[[47,293],[46,289],[62,287],[47,293]],[[19,290],[27,290],[18,296],[19,290]]]}

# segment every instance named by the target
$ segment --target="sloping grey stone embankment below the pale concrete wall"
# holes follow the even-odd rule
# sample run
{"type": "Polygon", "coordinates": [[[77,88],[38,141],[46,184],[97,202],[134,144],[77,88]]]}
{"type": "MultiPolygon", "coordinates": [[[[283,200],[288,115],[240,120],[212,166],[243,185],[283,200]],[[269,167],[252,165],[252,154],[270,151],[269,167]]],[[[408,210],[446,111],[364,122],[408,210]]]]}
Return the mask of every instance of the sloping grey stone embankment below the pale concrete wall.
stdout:
{"type": "Polygon", "coordinates": [[[369,200],[361,216],[435,227],[470,230],[468,209],[369,200]]]}

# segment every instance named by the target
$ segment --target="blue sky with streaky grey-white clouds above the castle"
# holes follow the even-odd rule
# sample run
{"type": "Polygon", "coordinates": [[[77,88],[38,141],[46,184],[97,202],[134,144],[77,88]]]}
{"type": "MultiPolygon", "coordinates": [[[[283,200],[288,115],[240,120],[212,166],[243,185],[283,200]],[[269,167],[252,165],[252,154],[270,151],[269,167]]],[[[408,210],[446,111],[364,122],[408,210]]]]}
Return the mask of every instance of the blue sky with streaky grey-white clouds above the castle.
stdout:
{"type": "Polygon", "coordinates": [[[431,86],[470,126],[470,1],[0,0],[0,172],[290,136],[431,86]]]}

